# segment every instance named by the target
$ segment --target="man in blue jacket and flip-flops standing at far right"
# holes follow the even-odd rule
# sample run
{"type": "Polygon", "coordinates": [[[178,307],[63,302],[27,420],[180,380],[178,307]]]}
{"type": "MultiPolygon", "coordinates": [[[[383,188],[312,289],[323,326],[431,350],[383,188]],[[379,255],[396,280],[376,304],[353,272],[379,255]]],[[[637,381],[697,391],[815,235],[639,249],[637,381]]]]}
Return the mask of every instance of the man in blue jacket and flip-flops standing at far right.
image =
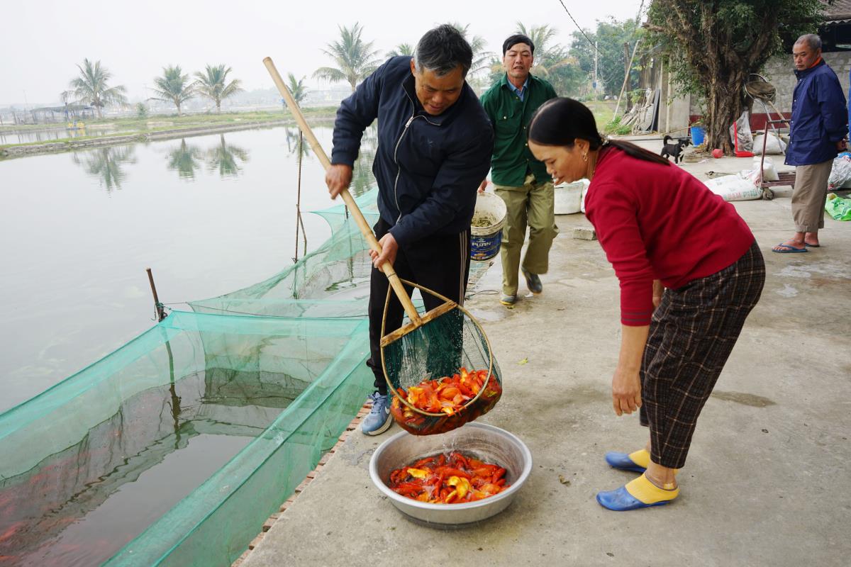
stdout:
{"type": "Polygon", "coordinates": [[[833,160],[845,150],[848,114],[837,74],[821,59],[821,39],[815,34],[798,38],[792,48],[797,86],[792,95],[792,119],[786,164],[795,168],[792,218],[795,235],[773,252],[807,252],[819,246],[825,226],[827,180],[833,160]]]}

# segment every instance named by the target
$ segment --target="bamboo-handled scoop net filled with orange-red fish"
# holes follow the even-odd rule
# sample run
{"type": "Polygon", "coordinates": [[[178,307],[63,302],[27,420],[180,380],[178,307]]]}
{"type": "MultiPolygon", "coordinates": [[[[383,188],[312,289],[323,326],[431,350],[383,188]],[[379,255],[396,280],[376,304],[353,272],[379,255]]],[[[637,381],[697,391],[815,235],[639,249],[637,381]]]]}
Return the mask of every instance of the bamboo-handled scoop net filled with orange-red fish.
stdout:
{"type": "MultiPolygon", "coordinates": [[[[275,64],[269,57],[263,63],[311,149],[328,170],[331,162],[278,74],[275,64]]],[[[380,254],[381,245],[349,190],[342,190],[340,196],[370,249],[380,254]]],[[[394,395],[391,414],[396,422],[414,435],[439,434],[459,428],[490,411],[502,395],[502,379],[482,326],[458,303],[414,282],[400,279],[391,263],[382,264],[381,271],[390,283],[381,320],[381,367],[394,395]],[[432,306],[422,315],[417,312],[410,298],[414,288],[420,290],[423,302],[432,306]],[[387,332],[388,313],[398,309],[395,302],[401,303],[407,320],[399,328],[387,332]],[[482,383],[481,387],[473,388],[472,395],[468,393],[462,396],[469,399],[463,400],[463,405],[458,409],[444,405],[448,404],[447,400],[439,400],[441,409],[438,410],[437,405],[431,403],[424,410],[408,400],[409,388],[417,388],[424,381],[430,382],[428,388],[433,388],[443,378],[460,380],[470,377],[474,372],[482,383]]]]}

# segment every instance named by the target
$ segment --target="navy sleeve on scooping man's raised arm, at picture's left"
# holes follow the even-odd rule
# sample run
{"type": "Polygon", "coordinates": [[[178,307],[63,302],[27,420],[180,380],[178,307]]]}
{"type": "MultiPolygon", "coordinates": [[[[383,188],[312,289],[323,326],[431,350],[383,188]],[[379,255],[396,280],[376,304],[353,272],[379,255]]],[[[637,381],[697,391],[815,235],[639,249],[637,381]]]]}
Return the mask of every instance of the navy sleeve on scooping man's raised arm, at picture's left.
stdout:
{"type": "Polygon", "coordinates": [[[353,166],[361,147],[363,131],[378,116],[381,83],[386,63],[367,77],[349,98],[340,103],[334,121],[331,163],[353,166]]]}

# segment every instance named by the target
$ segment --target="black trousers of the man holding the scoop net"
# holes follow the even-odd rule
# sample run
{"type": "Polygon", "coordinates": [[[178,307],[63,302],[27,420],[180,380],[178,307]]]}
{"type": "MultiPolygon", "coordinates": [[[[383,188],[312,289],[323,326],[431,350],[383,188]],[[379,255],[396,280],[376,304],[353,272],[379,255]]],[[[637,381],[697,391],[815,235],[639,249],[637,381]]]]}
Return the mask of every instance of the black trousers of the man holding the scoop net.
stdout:
{"type": "MultiPolygon", "coordinates": [[[[387,234],[391,225],[383,219],[373,227],[375,237],[387,234]]],[[[403,280],[413,281],[423,287],[452,299],[459,305],[464,304],[467,289],[467,277],[470,275],[470,229],[454,235],[431,235],[423,240],[399,247],[393,269],[403,280]]],[[[375,375],[375,389],[387,394],[387,382],[381,370],[381,320],[384,317],[384,305],[387,288],[390,287],[387,276],[373,267],[369,281],[369,366],[375,375]]],[[[406,286],[408,296],[413,288],[406,286]]],[[[423,293],[426,311],[434,309],[442,300],[423,293]]],[[[387,306],[385,333],[402,326],[404,309],[402,303],[391,292],[387,306]]]]}

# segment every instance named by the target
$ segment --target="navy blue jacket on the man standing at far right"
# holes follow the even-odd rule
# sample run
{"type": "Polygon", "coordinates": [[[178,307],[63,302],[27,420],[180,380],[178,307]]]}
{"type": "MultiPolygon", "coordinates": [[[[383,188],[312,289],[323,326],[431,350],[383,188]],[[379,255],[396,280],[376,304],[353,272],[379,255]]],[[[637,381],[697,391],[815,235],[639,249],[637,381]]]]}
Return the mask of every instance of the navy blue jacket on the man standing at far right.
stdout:
{"type": "Polygon", "coordinates": [[[786,164],[808,166],[837,156],[837,142],[848,133],[845,94],[837,74],[824,60],[805,71],[792,94],[792,123],[786,164]]]}

